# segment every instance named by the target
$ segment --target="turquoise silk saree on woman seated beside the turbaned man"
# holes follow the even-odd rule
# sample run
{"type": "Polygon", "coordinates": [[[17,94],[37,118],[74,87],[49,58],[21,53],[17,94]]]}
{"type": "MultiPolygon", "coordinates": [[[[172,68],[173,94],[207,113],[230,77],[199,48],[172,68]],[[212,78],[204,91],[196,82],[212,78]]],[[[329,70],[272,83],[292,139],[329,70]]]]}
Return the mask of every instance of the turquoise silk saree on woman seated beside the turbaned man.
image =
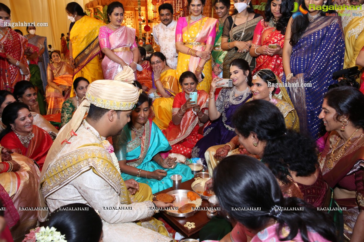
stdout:
{"type": "MultiPolygon", "coordinates": [[[[166,158],[168,152],[171,150],[168,140],[158,126],[149,119],[145,124],[144,133],[141,139],[135,138],[131,140],[131,132],[129,125],[126,125],[121,135],[112,137],[115,155],[118,160],[126,160],[127,165],[144,171],[153,172],[158,169],[166,170],[166,168],[161,167],[153,160],[153,157],[158,153],[161,153],[163,159],[166,158]]],[[[137,182],[148,184],[153,193],[170,188],[172,186],[172,180],[170,178],[172,175],[181,175],[182,182],[193,177],[191,169],[187,167],[187,165],[181,163],[177,163],[175,168],[167,171],[167,176],[160,181],[121,173],[124,180],[134,179],[137,182]]]]}

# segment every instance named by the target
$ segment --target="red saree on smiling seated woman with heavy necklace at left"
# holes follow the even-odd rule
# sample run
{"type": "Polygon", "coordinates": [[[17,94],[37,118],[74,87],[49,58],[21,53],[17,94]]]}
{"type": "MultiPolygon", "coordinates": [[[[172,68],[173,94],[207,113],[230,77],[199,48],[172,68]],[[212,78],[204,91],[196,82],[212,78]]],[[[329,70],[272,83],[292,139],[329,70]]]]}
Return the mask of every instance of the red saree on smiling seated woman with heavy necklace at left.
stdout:
{"type": "Polygon", "coordinates": [[[6,134],[3,139],[1,139],[1,144],[5,148],[11,149],[13,152],[20,153],[21,155],[25,155],[28,158],[35,160],[41,170],[44,161],[46,160],[48,150],[53,144],[53,140],[45,130],[35,125],[33,125],[33,134],[34,137],[30,140],[28,148],[25,148],[24,145],[21,144],[14,132],[6,134]]]}

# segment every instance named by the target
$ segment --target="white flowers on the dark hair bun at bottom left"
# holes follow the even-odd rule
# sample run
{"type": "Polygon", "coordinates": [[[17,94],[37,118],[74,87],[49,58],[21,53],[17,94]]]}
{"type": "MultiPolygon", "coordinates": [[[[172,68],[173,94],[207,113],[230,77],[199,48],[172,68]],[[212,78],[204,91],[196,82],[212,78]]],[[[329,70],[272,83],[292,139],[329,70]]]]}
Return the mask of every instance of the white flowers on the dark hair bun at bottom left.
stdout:
{"type": "Polygon", "coordinates": [[[55,227],[42,226],[30,230],[23,242],[67,242],[65,238],[55,227]]]}

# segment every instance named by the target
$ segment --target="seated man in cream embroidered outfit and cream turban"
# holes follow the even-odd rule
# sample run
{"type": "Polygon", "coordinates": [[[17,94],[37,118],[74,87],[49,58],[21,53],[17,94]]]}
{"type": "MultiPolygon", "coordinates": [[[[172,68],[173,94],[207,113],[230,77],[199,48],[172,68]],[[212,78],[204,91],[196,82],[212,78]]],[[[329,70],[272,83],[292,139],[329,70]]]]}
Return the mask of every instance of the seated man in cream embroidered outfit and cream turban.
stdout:
{"type": "MultiPolygon", "coordinates": [[[[41,174],[40,190],[50,211],[77,202],[90,205],[102,218],[104,242],[172,240],[165,236],[168,233],[161,222],[151,217],[155,206],[171,204],[148,201],[151,191],[145,184],[124,182],[112,146],[104,137],[121,132],[138,96],[136,87],[120,81],[91,83],[87,100],[60,131],[41,174]],[[136,192],[135,196],[128,191],[136,192]]],[[[40,214],[40,221],[45,218],[40,214]]]]}

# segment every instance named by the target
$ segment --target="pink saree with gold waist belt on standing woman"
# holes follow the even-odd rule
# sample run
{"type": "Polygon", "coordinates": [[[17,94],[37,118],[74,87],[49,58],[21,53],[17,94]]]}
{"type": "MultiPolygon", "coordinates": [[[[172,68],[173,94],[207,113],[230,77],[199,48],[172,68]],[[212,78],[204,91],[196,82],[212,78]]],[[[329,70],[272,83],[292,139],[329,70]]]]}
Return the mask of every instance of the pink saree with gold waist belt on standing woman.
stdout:
{"type": "MultiPolygon", "coordinates": [[[[133,61],[133,53],[130,49],[138,47],[135,43],[135,29],[126,26],[120,26],[115,31],[107,28],[107,26],[101,26],[99,43],[101,49],[109,48],[128,65],[133,61]]],[[[107,80],[114,80],[115,75],[123,70],[120,64],[110,60],[107,56],[104,57],[101,66],[104,79],[107,80]]]]}

